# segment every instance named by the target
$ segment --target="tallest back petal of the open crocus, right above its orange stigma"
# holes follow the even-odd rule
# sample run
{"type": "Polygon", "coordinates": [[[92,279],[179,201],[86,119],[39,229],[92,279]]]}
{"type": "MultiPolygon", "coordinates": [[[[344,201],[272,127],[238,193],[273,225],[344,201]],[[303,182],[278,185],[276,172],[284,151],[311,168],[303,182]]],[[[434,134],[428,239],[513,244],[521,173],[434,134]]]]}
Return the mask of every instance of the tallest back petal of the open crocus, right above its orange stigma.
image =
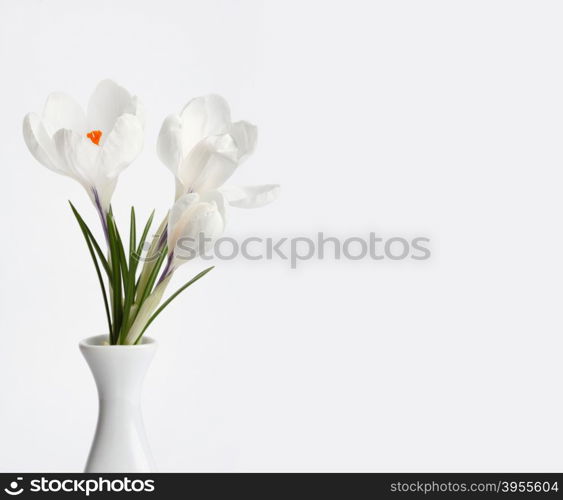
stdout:
{"type": "Polygon", "coordinates": [[[124,113],[140,113],[139,102],[129,91],[112,80],[101,81],[88,102],[88,127],[101,130],[100,144],[113,129],[117,119],[124,113]]]}

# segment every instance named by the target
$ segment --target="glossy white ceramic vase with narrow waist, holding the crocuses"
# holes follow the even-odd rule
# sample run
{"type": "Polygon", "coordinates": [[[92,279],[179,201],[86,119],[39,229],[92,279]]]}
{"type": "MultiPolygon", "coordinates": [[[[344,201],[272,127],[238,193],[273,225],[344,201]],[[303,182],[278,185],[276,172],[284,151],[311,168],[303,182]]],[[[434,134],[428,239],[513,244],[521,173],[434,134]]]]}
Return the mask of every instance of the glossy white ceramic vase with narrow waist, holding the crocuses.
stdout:
{"type": "Polygon", "coordinates": [[[80,342],[99,397],[98,425],[84,472],[153,472],[141,389],[157,344],[148,337],[134,346],[109,346],[105,341],[107,336],[99,335],[80,342]]]}

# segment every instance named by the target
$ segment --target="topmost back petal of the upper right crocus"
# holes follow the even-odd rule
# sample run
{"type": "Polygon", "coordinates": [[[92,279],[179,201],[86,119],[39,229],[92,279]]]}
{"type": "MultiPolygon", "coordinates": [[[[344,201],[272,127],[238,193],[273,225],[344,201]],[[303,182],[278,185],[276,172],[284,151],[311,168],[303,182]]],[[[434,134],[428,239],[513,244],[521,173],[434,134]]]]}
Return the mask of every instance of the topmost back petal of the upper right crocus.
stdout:
{"type": "Polygon", "coordinates": [[[218,95],[192,99],[180,113],[182,145],[185,157],[205,137],[226,134],[231,127],[227,101],[218,95]]]}

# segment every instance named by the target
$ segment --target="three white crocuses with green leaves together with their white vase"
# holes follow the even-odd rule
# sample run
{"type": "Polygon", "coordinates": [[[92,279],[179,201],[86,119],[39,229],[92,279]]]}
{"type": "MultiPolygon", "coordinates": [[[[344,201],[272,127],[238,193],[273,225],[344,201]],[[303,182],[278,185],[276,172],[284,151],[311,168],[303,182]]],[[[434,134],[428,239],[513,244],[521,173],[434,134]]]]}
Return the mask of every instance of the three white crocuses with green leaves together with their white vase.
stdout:
{"type": "Polygon", "coordinates": [[[108,329],[80,344],[100,396],[87,471],[153,469],[138,403],[155,348],[144,334],[172,300],[213,268],[164,299],[172,275],[205,250],[201,242],[210,245],[223,232],[227,207],[259,207],[278,195],[277,185],[224,186],[257,140],[254,125],[232,122],[230,115],[222,97],[208,95],[192,99],[164,120],[157,153],[174,175],[175,200],[155,234],[154,211],[138,225],[132,207],[129,228],[121,231],[111,207],[119,174],[143,147],[144,114],[137,97],[104,80],[86,112],[68,95],[52,93],[42,114],[24,118],[23,136],[31,154],[45,167],[78,181],[101,222],[96,238],[70,204],[94,263],[108,329]]]}

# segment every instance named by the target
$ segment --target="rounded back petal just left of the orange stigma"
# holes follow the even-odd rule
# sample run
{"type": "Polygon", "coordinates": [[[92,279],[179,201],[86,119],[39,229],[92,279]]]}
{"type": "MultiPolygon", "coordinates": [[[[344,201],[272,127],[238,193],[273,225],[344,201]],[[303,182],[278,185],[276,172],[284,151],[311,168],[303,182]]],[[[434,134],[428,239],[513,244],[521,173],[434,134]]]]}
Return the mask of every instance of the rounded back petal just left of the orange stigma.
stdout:
{"type": "Polygon", "coordinates": [[[74,130],[79,134],[87,133],[84,110],[72,97],[62,92],[53,92],[47,98],[42,121],[50,136],[61,128],[74,130]]]}

